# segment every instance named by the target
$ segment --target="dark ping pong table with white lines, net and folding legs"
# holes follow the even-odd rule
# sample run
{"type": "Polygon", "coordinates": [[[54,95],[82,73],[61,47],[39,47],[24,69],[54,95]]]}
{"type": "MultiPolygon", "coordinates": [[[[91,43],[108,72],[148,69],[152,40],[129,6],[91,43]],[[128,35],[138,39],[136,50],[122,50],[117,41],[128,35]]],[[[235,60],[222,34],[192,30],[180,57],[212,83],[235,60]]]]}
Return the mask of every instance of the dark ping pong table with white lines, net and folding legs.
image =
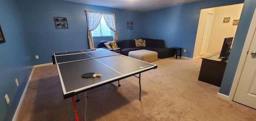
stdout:
{"type": "Polygon", "coordinates": [[[72,97],[76,120],[79,120],[74,103],[76,94],[84,93],[84,119],[86,120],[86,91],[114,81],[118,81],[118,86],[120,86],[119,80],[134,75],[139,79],[139,100],[141,100],[140,73],[157,68],[155,64],[130,58],[103,48],[58,52],[54,53],[53,59],[58,68],[64,99],[72,97]],[[89,72],[101,74],[102,76],[81,77],[84,73],[89,72]]]}

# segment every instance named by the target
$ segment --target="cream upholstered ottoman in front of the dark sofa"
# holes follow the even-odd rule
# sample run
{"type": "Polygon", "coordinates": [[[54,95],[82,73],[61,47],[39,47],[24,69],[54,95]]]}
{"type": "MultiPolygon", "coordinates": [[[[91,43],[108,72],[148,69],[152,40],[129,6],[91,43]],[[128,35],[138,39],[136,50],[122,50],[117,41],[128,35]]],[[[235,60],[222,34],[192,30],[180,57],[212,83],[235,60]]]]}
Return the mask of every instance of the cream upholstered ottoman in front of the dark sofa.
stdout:
{"type": "Polygon", "coordinates": [[[128,56],[146,62],[153,62],[157,60],[158,53],[150,50],[135,50],[130,51],[128,56]]]}

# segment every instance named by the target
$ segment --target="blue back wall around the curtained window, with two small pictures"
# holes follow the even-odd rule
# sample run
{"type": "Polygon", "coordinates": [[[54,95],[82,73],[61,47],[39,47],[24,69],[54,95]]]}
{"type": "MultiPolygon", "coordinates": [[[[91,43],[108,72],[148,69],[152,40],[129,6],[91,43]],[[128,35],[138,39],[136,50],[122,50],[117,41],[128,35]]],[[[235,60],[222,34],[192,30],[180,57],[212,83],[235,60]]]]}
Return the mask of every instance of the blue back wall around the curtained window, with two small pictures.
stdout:
{"type": "MultiPolygon", "coordinates": [[[[32,64],[52,62],[54,52],[89,49],[88,29],[84,10],[116,14],[116,32],[118,40],[141,38],[142,12],[93,6],[62,0],[17,0],[26,37],[33,50],[32,64]],[[56,29],[54,17],[66,17],[68,29],[56,29]],[[134,29],[127,30],[126,22],[134,22],[134,29]],[[39,59],[35,59],[38,55],[39,59]]],[[[94,38],[94,46],[100,40],[112,38],[94,38]]]]}

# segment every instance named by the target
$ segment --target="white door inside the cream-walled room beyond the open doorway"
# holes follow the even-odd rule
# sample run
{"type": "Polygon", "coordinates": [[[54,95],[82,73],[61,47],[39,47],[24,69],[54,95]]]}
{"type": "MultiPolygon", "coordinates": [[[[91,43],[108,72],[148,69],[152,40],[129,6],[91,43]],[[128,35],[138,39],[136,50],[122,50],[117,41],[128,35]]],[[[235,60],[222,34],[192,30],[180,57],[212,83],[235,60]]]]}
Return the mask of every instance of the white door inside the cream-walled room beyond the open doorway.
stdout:
{"type": "Polygon", "coordinates": [[[209,38],[210,38],[210,32],[212,30],[213,18],[214,18],[214,14],[212,12],[208,12],[207,17],[206,17],[205,26],[204,26],[204,34],[203,34],[203,38],[202,38],[202,44],[201,44],[199,56],[206,54],[206,50],[207,50],[208,42],[209,42],[209,38]]]}

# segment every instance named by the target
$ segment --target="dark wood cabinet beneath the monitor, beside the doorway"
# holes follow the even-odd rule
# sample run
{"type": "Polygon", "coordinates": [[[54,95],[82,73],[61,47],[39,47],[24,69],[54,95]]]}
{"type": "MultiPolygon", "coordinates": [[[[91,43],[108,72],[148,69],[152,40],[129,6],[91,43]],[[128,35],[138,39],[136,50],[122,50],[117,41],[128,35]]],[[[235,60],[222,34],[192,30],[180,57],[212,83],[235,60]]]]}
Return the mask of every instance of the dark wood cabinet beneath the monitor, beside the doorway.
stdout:
{"type": "Polygon", "coordinates": [[[219,59],[220,52],[216,52],[202,59],[198,80],[220,87],[228,60],[219,59]]]}

